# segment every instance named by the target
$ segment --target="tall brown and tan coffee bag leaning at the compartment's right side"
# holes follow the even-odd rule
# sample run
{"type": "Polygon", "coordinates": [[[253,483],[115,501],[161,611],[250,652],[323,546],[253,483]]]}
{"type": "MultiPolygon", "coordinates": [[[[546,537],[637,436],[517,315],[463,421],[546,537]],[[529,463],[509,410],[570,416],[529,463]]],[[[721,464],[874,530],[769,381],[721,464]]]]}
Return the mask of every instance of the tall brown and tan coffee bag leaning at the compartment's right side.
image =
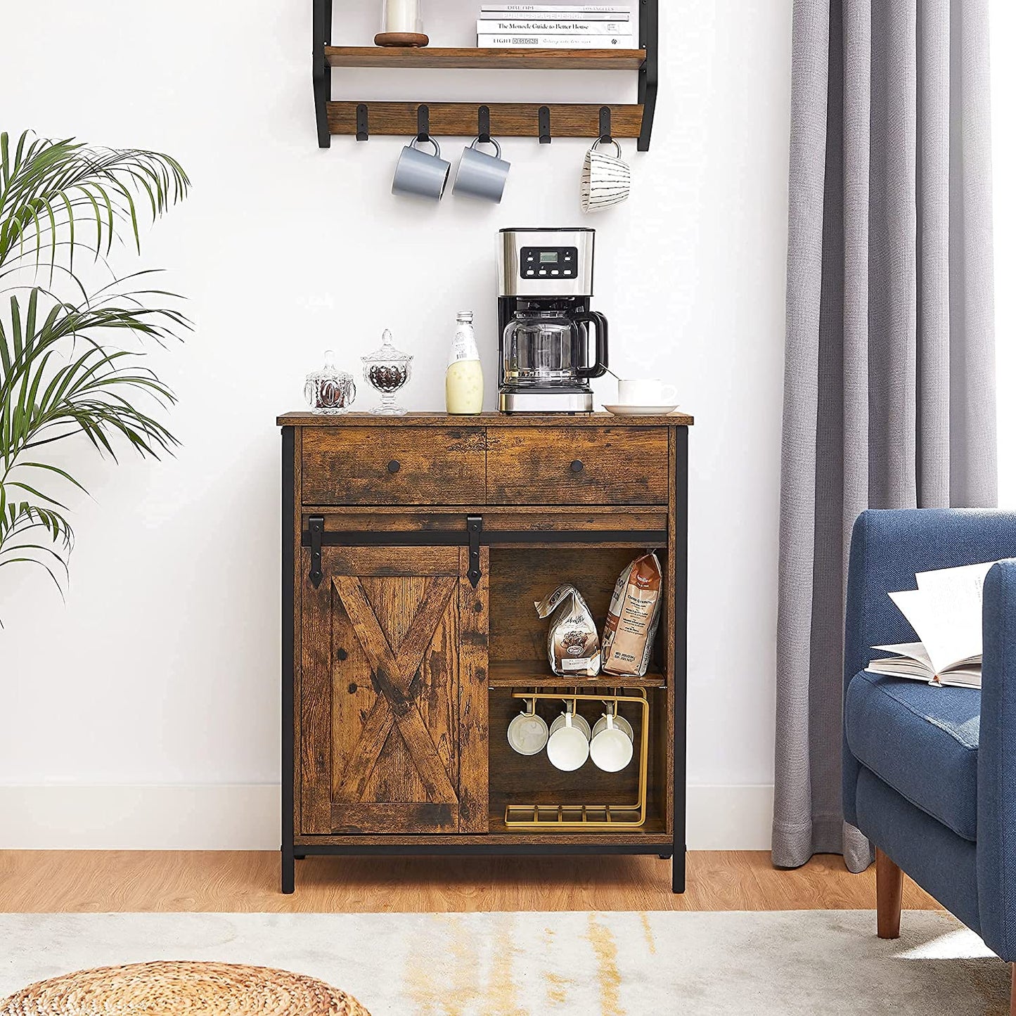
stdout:
{"type": "Polygon", "coordinates": [[[614,587],[604,625],[604,673],[645,676],[659,625],[663,573],[651,551],[636,558],[614,587]]]}

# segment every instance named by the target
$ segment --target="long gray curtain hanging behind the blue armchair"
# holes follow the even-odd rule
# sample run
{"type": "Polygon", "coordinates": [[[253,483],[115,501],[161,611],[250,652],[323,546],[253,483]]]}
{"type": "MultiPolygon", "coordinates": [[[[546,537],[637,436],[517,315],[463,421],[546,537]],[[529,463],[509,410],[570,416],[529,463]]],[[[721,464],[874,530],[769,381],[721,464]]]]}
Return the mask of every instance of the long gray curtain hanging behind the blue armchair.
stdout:
{"type": "Polygon", "coordinates": [[[840,806],[865,508],[996,503],[988,0],[796,0],[773,863],[840,806]]]}

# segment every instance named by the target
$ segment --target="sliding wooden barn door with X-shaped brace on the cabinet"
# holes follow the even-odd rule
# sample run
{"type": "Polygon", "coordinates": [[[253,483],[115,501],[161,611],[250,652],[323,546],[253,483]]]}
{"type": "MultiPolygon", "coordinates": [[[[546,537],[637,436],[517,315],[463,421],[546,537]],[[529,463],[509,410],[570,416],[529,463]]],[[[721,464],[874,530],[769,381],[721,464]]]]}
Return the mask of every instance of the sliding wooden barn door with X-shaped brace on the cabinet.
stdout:
{"type": "Polygon", "coordinates": [[[325,547],[305,578],[305,835],[487,830],[487,554],[475,589],[467,558],[325,547]]]}

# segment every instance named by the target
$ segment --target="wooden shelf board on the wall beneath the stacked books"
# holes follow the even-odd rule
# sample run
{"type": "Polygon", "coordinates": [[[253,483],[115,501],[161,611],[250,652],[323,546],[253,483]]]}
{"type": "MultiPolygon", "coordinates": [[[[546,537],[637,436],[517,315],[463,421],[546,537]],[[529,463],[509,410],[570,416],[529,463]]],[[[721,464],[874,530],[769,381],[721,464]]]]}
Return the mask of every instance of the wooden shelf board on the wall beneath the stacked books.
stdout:
{"type": "Polygon", "coordinates": [[[639,70],[645,50],[535,50],[477,47],[422,49],[326,46],[329,67],[467,68],[473,70],[639,70]]]}

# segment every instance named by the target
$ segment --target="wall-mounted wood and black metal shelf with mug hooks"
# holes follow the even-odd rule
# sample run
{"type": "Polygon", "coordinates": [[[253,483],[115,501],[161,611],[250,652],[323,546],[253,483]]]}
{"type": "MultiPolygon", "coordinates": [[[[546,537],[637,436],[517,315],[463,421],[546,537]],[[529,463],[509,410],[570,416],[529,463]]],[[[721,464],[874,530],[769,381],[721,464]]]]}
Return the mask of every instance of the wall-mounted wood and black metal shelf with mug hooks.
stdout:
{"type": "MultiPolygon", "coordinates": [[[[638,50],[422,49],[378,46],[332,46],[332,0],[314,2],[314,106],[318,145],[331,146],[333,134],[419,134],[419,103],[333,102],[333,68],[416,68],[446,70],[628,70],[638,72],[638,103],[611,105],[611,136],[638,138],[638,150],[648,151],[656,108],[659,0],[633,0],[638,5],[638,50]]],[[[430,130],[435,135],[468,137],[478,133],[481,106],[490,110],[491,133],[505,137],[602,136],[602,104],[554,103],[428,103],[430,130]]]]}

